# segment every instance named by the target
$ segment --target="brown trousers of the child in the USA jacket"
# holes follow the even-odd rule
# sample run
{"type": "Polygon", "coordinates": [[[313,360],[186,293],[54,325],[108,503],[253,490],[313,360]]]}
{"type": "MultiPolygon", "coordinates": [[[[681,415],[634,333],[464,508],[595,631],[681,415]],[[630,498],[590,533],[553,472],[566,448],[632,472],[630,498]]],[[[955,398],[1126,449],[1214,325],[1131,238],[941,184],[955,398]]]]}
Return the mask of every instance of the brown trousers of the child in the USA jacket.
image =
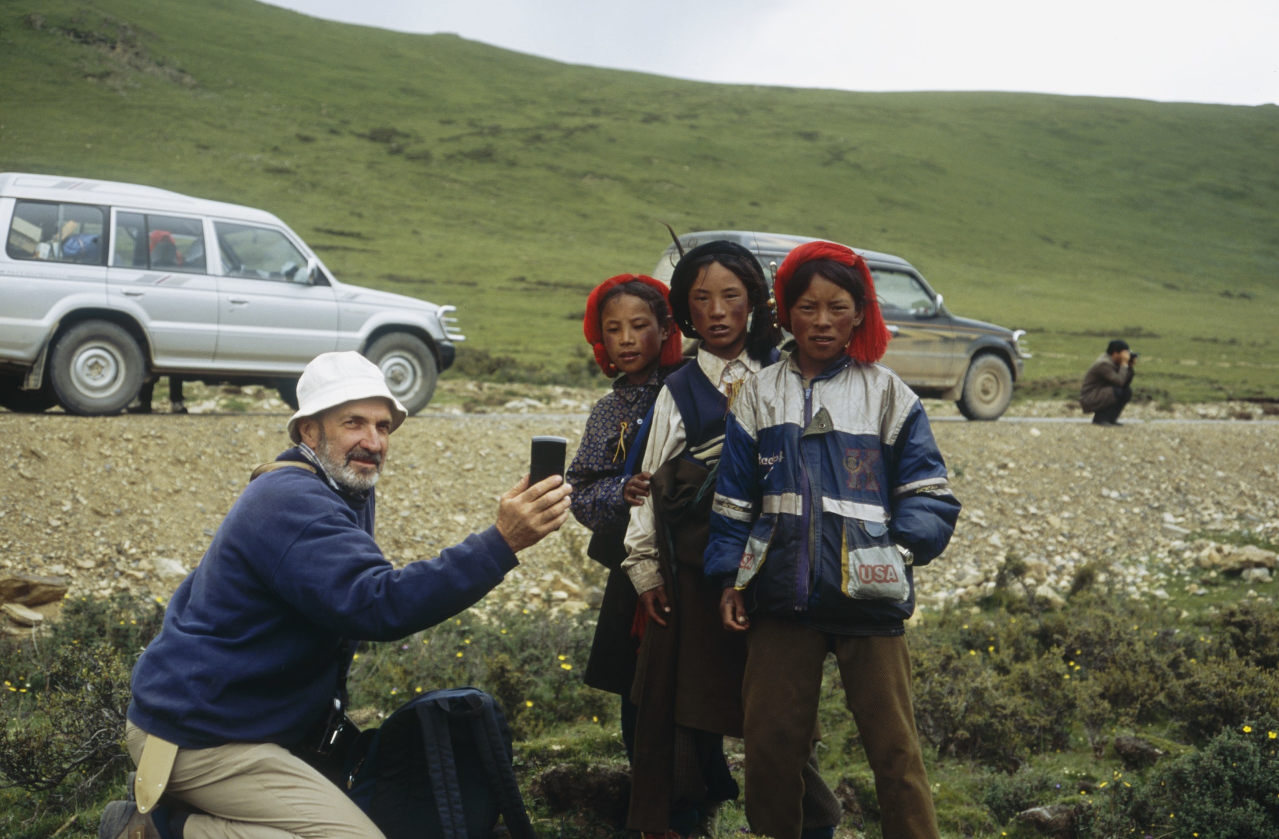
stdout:
{"type": "Polygon", "coordinates": [[[936,839],[932,793],[911,707],[904,636],[836,636],[757,616],[746,633],[746,817],[751,830],[798,839],[802,771],[812,743],[821,669],[835,654],[866,760],[875,772],[884,839],[936,839]]]}

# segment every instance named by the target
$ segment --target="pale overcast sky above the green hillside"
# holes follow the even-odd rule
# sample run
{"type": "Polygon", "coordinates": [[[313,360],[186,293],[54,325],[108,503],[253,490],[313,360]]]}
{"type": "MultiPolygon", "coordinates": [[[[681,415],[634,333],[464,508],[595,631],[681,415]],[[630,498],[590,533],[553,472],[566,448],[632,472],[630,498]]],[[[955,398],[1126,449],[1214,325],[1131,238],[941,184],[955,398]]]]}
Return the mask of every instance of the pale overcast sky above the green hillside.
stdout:
{"type": "Polygon", "coordinates": [[[707,82],[1279,102],[1276,0],[270,1],[707,82]]]}

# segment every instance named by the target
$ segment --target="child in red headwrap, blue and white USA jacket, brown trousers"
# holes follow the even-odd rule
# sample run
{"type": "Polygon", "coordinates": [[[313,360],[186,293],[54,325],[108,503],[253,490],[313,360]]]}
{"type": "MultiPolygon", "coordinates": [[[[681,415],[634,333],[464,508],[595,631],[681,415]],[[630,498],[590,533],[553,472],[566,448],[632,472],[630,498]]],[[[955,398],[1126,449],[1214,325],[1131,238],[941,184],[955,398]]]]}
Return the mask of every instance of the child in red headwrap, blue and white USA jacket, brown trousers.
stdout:
{"type": "Polygon", "coordinates": [[[775,839],[831,835],[801,802],[834,652],[885,839],[936,836],[903,622],[912,564],[945,549],[959,501],[918,396],[875,363],[889,335],[866,262],[811,242],[774,297],[796,350],[733,405],[705,564],[724,627],[746,634],[746,816],[775,839]]]}

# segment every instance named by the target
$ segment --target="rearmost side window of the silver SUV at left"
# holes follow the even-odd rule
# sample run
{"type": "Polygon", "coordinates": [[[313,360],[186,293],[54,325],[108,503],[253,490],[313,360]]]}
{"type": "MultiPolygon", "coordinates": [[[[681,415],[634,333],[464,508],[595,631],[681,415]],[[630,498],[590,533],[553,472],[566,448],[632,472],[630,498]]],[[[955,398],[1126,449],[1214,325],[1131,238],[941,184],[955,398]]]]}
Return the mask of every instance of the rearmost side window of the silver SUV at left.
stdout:
{"type": "Polygon", "coordinates": [[[19,201],[5,252],[14,260],[102,265],[102,228],[101,207],[19,201]]]}

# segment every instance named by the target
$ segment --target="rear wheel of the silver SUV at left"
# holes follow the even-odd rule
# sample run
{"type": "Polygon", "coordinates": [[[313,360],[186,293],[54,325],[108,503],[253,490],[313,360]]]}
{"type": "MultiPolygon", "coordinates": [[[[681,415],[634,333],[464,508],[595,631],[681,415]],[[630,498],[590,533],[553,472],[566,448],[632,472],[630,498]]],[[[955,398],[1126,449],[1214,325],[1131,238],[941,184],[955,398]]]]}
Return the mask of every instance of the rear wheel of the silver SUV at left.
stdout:
{"type": "Polygon", "coordinates": [[[111,321],[67,330],[50,354],[49,379],[70,413],[98,417],[124,411],[142,390],[146,363],[133,336],[111,321]]]}

